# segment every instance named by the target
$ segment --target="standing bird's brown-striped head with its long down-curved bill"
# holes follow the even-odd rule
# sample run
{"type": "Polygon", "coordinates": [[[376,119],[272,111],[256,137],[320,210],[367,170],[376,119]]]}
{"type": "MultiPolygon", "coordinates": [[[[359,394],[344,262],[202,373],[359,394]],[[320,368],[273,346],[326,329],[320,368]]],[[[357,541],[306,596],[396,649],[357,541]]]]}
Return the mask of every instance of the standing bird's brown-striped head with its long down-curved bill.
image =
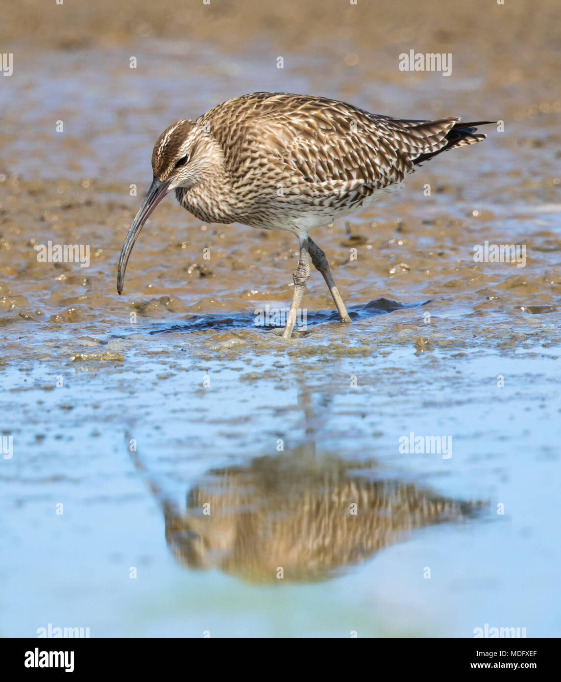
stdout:
{"type": "Polygon", "coordinates": [[[217,141],[204,125],[177,121],[159,136],[152,152],[154,179],[127,234],[118,263],[117,291],[123,291],[129,256],[142,226],[171,190],[193,188],[220,163],[217,141]]]}

